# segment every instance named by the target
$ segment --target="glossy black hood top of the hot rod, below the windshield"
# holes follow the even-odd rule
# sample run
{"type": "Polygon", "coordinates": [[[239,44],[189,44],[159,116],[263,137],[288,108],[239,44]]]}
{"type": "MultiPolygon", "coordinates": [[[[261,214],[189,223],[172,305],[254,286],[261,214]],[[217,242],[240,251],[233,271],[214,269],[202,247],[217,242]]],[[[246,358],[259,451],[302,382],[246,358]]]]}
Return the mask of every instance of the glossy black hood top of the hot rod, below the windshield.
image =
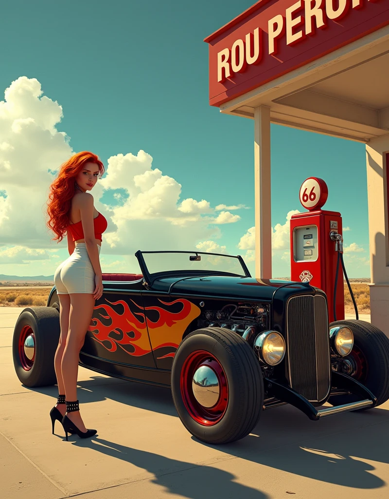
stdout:
{"type": "Polygon", "coordinates": [[[284,287],[285,291],[288,289],[289,293],[293,289],[293,294],[305,294],[308,290],[310,293],[314,292],[312,286],[301,282],[224,275],[159,278],[152,283],[151,290],[165,291],[172,296],[189,294],[198,297],[271,301],[274,291],[280,287],[284,287]]]}

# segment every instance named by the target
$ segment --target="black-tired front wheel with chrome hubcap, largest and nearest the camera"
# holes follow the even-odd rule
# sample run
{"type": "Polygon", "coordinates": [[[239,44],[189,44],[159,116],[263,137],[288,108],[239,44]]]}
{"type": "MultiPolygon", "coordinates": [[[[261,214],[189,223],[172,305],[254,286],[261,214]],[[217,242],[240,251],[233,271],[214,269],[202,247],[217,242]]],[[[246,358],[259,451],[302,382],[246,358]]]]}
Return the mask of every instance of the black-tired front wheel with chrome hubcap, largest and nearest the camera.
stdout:
{"type": "Polygon", "coordinates": [[[182,424],[210,444],[246,437],[263,406],[263,379],[254,351],[237,333],[221,327],[197,329],[181,341],[171,391],[182,424]]]}

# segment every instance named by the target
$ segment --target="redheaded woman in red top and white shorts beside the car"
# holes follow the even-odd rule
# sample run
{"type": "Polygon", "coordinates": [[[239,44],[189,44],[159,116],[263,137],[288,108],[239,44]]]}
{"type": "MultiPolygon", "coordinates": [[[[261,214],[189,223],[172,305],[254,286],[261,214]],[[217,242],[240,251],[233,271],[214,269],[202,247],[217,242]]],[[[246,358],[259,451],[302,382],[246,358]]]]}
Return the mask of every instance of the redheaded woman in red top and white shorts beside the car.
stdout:
{"type": "Polygon", "coordinates": [[[66,432],[87,438],[96,430],[87,430],[77,399],[79,352],[91,323],[95,300],[103,294],[100,249],[107,220],[99,213],[88,192],[104,173],[96,154],[82,151],[60,167],[50,186],[48,227],[62,241],[66,232],[69,258],[54,272],[54,284],[60,303],[61,335],[54,358],[58,383],[58,402],[50,411],[53,426],[57,419],[66,432]],[[66,404],[66,408],[65,408],[66,404]],[[66,412],[66,414],[65,414],[66,412]]]}

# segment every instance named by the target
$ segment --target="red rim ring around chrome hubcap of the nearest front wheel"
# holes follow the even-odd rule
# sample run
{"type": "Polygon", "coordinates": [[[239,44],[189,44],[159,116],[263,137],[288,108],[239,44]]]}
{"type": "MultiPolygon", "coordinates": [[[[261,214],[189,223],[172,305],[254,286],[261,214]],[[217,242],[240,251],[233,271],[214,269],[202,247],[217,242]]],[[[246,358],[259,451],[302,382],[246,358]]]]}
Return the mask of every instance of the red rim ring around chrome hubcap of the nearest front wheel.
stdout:
{"type": "Polygon", "coordinates": [[[227,378],[220,362],[210,352],[196,350],[187,357],[181,369],[180,388],[188,413],[200,425],[216,425],[225,415],[228,406],[227,378]],[[217,378],[219,395],[215,395],[217,401],[212,407],[202,405],[193,392],[193,378],[200,368],[210,368],[217,378]]]}

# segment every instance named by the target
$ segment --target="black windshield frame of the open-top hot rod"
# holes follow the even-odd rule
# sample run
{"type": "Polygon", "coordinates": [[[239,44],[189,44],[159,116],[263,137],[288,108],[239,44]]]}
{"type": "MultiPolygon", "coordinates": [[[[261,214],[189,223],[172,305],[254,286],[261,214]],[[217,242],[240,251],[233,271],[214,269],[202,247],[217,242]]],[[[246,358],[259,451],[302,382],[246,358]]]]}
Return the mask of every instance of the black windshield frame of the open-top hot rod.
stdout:
{"type": "Polygon", "coordinates": [[[141,251],[137,250],[135,253],[135,256],[139,262],[139,267],[140,270],[142,271],[143,274],[143,279],[144,281],[151,286],[152,283],[161,277],[204,277],[205,275],[226,275],[230,277],[251,277],[251,273],[249,272],[249,269],[247,268],[247,265],[242,258],[241,255],[231,255],[231,254],[222,254],[222,253],[210,253],[206,251],[141,251]],[[242,270],[245,275],[240,275],[240,274],[235,274],[232,272],[224,272],[222,270],[163,270],[161,272],[154,272],[150,273],[147,269],[146,262],[144,261],[143,254],[146,253],[187,253],[187,254],[193,254],[193,255],[215,255],[215,256],[226,256],[228,258],[237,258],[242,265],[242,270]]]}

